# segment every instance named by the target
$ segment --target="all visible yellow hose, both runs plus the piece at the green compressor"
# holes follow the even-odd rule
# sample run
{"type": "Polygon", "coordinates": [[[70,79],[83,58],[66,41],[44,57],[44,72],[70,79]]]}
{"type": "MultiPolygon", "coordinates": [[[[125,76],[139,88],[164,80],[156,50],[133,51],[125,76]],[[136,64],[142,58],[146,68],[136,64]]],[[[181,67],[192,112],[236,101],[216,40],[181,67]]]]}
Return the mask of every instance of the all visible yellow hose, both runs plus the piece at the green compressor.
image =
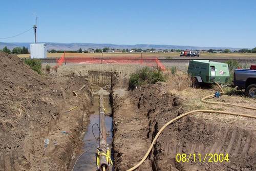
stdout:
{"type": "MultiPolygon", "coordinates": [[[[223,89],[221,88],[221,86],[215,82],[217,84],[217,86],[221,89],[222,93],[225,94],[225,92],[223,91],[223,89]]],[[[239,105],[239,104],[232,104],[232,103],[225,103],[225,102],[209,102],[209,101],[206,101],[206,99],[208,98],[213,98],[215,97],[215,94],[211,94],[209,96],[206,96],[204,98],[202,98],[201,100],[205,103],[211,103],[211,104],[226,104],[226,105],[234,105],[234,106],[239,106],[241,108],[246,108],[246,109],[251,109],[251,110],[256,110],[256,108],[252,108],[252,107],[249,107],[249,106],[242,106],[242,105],[239,105]]],[[[189,114],[193,114],[193,113],[197,113],[197,112],[202,112],[202,113],[220,113],[220,114],[224,114],[224,115],[234,115],[234,116],[243,116],[243,117],[248,117],[248,118],[253,118],[253,119],[256,119],[256,116],[252,116],[252,115],[245,115],[245,114],[237,114],[237,113],[232,113],[232,112],[225,112],[225,111],[215,111],[215,110],[194,110],[194,111],[190,111],[190,112],[187,112],[187,113],[184,113],[172,120],[170,120],[169,122],[165,123],[163,125],[163,127],[161,127],[161,129],[158,131],[157,135],[155,136],[154,140],[152,141],[151,145],[150,145],[150,148],[148,148],[146,154],[144,155],[144,157],[142,158],[142,160],[136,164],[135,166],[133,166],[132,168],[128,169],[127,171],[132,171],[132,170],[135,170],[136,168],[138,168],[147,158],[147,156],[150,154],[152,148],[153,148],[153,145],[154,143],[156,142],[157,138],[159,137],[159,135],[162,133],[162,131],[165,129],[166,126],[168,126],[169,124],[173,123],[174,121],[180,119],[180,118],[183,118],[184,116],[187,116],[189,114]]]]}

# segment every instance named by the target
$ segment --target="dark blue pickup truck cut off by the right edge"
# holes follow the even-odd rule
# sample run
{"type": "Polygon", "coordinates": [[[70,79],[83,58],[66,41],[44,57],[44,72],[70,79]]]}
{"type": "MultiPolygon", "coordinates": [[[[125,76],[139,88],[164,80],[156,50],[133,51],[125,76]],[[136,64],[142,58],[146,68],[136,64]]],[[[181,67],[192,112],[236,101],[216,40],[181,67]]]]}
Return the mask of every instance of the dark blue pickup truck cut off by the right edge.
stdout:
{"type": "Polygon", "coordinates": [[[247,96],[256,98],[256,66],[251,66],[250,69],[234,70],[233,83],[238,90],[244,89],[247,96]]]}

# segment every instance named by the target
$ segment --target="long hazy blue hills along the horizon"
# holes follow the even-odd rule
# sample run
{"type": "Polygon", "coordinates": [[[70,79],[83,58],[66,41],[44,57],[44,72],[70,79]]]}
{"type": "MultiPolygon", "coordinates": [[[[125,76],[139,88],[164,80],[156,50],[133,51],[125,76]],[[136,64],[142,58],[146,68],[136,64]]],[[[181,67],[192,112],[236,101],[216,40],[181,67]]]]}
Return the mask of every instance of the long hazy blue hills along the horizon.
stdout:
{"type": "MultiPolygon", "coordinates": [[[[90,44],[90,43],[56,43],[56,42],[40,42],[47,44],[48,50],[78,50],[81,48],[82,50],[86,50],[88,48],[93,49],[103,49],[105,47],[114,48],[114,49],[133,49],[133,48],[141,48],[141,49],[181,49],[181,50],[208,50],[208,49],[230,49],[239,50],[241,48],[228,48],[228,47],[197,47],[197,46],[178,46],[178,45],[150,45],[150,44],[137,44],[137,45],[114,45],[114,44],[90,44]]],[[[0,49],[3,49],[7,46],[9,49],[13,49],[14,47],[27,47],[30,49],[30,42],[0,42],[0,49]]]]}

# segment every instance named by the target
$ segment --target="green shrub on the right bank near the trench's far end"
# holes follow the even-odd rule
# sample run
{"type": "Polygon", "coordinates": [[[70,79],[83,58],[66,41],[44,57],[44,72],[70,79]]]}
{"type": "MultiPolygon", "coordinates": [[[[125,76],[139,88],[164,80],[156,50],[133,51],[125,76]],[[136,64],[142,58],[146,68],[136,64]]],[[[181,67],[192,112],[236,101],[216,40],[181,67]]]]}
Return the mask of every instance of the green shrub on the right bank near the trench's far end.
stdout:
{"type": "Polygon", "coordinates": [[[165,80],[165,76],[161,70],[143,67],[136,73],[130,75],[129,88],[134,89],[135,87],[140,86],[142,84],[155,84],[158,81],[165,82],[165,80]]]}

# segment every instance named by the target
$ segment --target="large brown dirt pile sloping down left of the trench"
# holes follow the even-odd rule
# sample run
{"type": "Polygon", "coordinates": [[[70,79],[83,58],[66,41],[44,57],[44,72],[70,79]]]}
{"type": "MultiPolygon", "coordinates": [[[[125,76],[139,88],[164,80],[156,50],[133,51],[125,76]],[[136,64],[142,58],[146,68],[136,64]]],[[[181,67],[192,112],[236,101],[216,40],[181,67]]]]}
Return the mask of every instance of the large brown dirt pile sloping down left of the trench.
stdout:
{"type": "Polygon", "coordinates": [[[2,52],[0,72],[0,170],[66,170],[91,105],[88,82],[77,76],[41,76],[16,55],[2,52]],[[83,84],[86,88],[75,98],[72,91],[83,84]],[[79,106],[76,114],[63,117],[64,111],[74,105],[79,106]],[[59,136],[63,127],[74,137],[58,139],[63,136],[59,136]],[[55,133],[58,136],[53,140],[55,133]],[[46,152],[45,139],[50,140],[46,152]],[[52,152],[57,140],[62,148],[55,143],[52,152]],[[62,156],[54,159],[52,153],[62,156]]]}

